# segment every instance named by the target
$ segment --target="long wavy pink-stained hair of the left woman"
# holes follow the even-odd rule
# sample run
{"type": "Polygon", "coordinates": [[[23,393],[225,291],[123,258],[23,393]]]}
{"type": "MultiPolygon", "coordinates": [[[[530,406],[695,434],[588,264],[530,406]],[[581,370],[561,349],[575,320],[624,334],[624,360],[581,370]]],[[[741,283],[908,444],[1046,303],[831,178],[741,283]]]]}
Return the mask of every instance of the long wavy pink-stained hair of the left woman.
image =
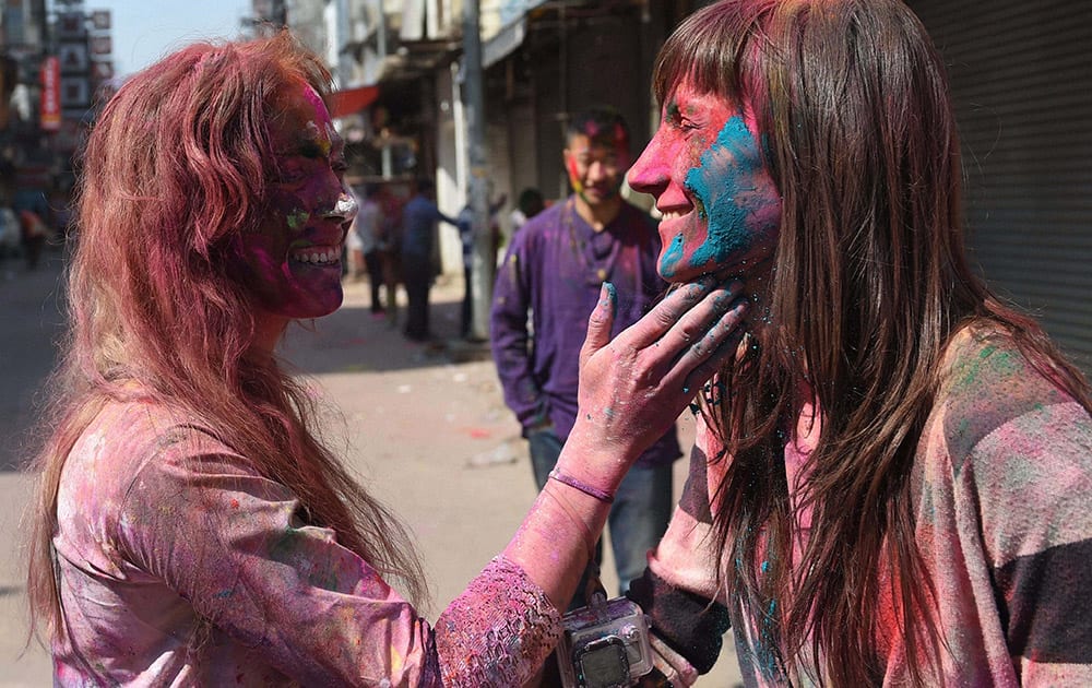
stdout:
{"type": "Polygon", "coordinates": [[[269,207],[275,96],[299,81],[330,92],[325,68],[287,32],[192,45],[127,82],[91,133],[69,340],[34,466],[32,631],[64,632],[52,536],[68,453],[104,404],[136,395],[199,419],[410,600],[425,595],[410,537],[322,444],[307,390],[251,351],[253,307],[228,268],[232,237],[269,207]]]}

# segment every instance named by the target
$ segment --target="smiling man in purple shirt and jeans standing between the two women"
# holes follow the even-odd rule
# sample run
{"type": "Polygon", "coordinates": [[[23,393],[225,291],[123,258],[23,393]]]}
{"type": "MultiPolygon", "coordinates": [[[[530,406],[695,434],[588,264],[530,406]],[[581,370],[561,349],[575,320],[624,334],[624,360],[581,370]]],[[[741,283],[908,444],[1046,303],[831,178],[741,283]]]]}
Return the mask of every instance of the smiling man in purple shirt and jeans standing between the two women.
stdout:
{"type": "MultiPolygon", "coordinates": [[[[505,401],[523,426],[539,489],[575,419],[580,347],[601,285],[610,282],[617,292],[613,334],[648,312],[667,286],[656,273],[655,225],[619,194],[631,162],[621,116],[606,108],[577,116],[563,154],[573,193],[512,237],[490,322],[505,401]]],[[[680,455],[673,427],[615,496],[608,526],[621,592],[642,573],[645,554],[667,530],[672,463],[680,455]]],[[[582,603],[578,593],[573,606],[582,603]]]]}

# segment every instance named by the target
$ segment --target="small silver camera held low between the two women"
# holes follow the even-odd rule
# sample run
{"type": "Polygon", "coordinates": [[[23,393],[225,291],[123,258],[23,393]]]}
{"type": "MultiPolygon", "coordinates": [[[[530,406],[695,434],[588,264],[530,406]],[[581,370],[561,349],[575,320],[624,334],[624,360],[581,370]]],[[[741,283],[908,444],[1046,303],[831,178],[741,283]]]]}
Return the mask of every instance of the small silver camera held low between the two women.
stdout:
{"type": "Polygon", "coordinates": [[[649,621],[626,597],[604,600],[561,618],[557,662],[565,688],[625,688],[652,671],[649,621]]]}

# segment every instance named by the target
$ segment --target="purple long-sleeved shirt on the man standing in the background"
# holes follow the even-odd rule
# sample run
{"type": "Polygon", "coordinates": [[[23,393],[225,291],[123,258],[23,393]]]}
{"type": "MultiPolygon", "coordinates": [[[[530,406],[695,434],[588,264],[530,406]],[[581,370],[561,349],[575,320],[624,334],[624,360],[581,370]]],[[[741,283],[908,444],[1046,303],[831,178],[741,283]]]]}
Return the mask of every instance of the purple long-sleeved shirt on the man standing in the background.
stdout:
{"type": "MultiPolygon", "coordinates": [[[[667,289],[656,273],[660,246],[652,220],[629,203],[596,233],[571,197],[512,237],[497,273],[490,336],[505,402],[524,431],[551,422],[562,440],[569,436],[577,417],[580,348],[600,287],[610,282],[617,290],[614,336],[667,289]]],[[[680,455],[673,427],[638,465],[662,465],[680,455]]]]}

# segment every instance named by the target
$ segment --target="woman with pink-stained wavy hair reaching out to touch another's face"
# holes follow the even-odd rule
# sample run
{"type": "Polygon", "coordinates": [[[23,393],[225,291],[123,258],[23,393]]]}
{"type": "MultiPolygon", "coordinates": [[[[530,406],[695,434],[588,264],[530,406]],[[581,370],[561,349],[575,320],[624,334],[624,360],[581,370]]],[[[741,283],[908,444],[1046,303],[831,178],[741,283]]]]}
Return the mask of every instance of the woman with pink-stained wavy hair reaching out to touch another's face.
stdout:
{"type": "Polygon", "coordinates": [[[554,479],[430,625],[413,543],[276,355],[342,301],[356,202],[329,88],[286,33],[199,44],[91,133],[28,573],[58,685],[523,685],[625,472],[737,347],[737,283],[613,341],[605,285],[554,479]]]}

